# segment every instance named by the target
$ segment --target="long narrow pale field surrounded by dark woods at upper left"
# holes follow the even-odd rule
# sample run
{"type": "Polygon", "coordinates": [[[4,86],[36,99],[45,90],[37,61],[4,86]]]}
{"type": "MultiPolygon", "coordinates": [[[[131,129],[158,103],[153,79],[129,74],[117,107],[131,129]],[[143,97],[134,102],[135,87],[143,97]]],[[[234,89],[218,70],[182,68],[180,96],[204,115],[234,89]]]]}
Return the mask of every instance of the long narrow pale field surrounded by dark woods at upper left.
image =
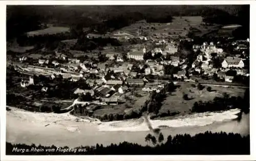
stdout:
{"type": "Polygon", "coordinates": [[[44,30],[31,31],[31,32],[28,32],[27,35],[28,36],[45,35],[45,34],[52,35],[52,34],[60,34],[60,33],[66,33],[66,32],[69,32],[69,28],[51,27],[44,30]]]}

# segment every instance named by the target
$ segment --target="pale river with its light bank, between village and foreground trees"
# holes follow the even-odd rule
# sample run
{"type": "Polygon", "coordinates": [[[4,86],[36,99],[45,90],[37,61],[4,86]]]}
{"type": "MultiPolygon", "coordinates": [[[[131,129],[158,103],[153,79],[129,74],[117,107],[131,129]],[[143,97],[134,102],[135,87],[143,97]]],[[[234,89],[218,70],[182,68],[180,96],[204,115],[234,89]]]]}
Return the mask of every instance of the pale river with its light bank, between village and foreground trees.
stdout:
{"type": "MultiPolygon", "coordinates": [[[[249,114],[243,114],[238,122],[234,120],[237,118],[235,114],[237,112],[239,111],[200,114],[203,116],[193,115],[174,120],[150,120],[150,122],[154,128],[162,128],[165,141],[168,135],[189,133],[193,136],[207,130],[240,133],[246,136],[249,134],[249,114]],[[198,123],[193,125],[196,120],[198,123]],[[204,122],[207,124],[202,124],[204,122]]],[[[68,113],[31,113],[16,108],[7,111],[6,141],[15,144],[75,147],[97,143],[110,145],[127,141],[146,145],[144,138],[148,133],[152,132],[142,119],[99,122],[81,119],[68,113]]]]}

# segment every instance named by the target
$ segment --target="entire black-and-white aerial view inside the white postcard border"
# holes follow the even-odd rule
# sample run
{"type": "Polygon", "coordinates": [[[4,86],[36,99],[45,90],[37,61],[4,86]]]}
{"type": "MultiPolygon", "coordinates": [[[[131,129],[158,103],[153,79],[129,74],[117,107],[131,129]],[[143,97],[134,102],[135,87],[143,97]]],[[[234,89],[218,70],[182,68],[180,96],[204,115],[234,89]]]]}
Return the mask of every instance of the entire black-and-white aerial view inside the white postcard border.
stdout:
{"type": "Polygon", "coordinates": [[[7,5],[6,155],[250,155],[249,36],[250,5],[7,5]]]}

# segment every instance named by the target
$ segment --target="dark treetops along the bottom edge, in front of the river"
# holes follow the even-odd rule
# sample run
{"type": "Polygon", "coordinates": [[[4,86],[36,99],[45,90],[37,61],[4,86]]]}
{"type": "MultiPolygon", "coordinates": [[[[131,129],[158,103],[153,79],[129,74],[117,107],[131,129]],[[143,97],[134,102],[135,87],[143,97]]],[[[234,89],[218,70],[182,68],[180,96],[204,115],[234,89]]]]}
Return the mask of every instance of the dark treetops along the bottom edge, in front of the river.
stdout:
{"type": "MultiPolygon", "coordinates": [[[[153,144],[148,142],[147,135],[145,142],[148,144],[142,146],[136,143],[122,142],[119,144],[111,144],[103,146],[79,146],[74,151],[57,151],[57,147],[52,146],[36,146],[35,144],[11,144],[6,143],[6,155],[248,155],[250,154],[250,136],[242,137],[238,133],[206,131],[198,133],[195,136],[188,134],[168,136],[164,143],[164,136],[159,135],[158,140],[153,139],[153,144]],[[160,137],[161,136],[161,137],[160,137]],[[31,148],[44,149],[40,152],[31,152],[31,148]],[[15,152],[13,149],[29,149],[24,152],[15,152]],[[53,149],[51,152],[46,149],[53,149]],[[86,149],[79,151],[79,149],[86,149]]],[[[69,148],[68,146],[62,148],[69,148]]]]}

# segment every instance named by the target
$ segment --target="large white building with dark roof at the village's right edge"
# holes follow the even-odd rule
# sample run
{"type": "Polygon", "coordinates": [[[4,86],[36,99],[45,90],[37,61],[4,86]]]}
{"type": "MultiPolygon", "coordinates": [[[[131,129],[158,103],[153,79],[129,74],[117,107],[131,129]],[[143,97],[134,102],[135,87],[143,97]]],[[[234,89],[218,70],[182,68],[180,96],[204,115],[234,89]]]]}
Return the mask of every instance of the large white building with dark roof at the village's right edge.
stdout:
{"type": "Polygon", "coordinates": [[[230,67],[243,68],[244,62],[241,58],[227,57],[224,59],[221,65],[223,68],[230,68],[230,67]]]}

